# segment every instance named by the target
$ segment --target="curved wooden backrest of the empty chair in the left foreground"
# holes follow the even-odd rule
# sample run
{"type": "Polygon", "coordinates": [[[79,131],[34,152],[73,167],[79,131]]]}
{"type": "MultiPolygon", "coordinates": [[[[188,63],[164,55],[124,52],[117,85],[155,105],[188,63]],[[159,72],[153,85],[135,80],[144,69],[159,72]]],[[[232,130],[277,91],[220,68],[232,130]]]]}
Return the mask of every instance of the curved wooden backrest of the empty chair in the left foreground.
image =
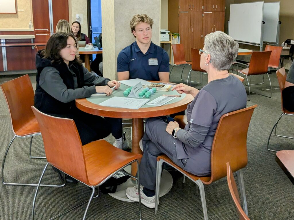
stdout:
{"type": "Polygon", "coordinates": [[[39,123],[47,161],[89,185],[82,143],[73,119],[58,118],[31,106],[39,123]]]}

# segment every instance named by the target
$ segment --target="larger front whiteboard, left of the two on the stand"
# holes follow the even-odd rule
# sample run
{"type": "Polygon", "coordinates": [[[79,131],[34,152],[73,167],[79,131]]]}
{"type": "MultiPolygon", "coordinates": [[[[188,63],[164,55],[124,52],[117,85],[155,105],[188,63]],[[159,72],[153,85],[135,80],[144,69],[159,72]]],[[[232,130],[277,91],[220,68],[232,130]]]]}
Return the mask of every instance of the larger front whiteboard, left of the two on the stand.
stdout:
{"type": "Polygon", "coordinates": [[[261,42],[263,1],[230,5],[229,35],[237,41],[261,42]]]}

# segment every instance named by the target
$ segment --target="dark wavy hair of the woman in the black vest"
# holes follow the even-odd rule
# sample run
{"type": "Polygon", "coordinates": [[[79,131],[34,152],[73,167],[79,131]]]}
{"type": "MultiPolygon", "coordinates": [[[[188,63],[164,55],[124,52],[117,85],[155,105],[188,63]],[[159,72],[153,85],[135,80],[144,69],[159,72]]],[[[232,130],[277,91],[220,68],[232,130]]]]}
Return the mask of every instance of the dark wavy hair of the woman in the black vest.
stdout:
{"type": "MultiPolygon", "coordinates": [[[[42,50],[42,57],[52,60],[52,62],[64,62],[63,58],[60,56],[60,50],[67,46],[67,39],[69,37],[73,38],[76,42],[76,45],[78,45],[78,42],[73,34],[65,32],[54,33],[47,41],[46,49],[42,50]]],[[[77,57],[77,55],[73,61],[70,61],[70,63],[71,62],[77,62],[78,64],[81,64],[81,60],[77,57]]]]}

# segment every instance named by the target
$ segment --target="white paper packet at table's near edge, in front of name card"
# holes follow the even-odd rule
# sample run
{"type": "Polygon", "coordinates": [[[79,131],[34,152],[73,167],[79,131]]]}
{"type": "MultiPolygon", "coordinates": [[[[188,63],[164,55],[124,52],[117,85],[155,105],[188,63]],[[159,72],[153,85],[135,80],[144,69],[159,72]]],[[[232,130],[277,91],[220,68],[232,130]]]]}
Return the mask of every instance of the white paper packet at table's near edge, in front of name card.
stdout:
{"type": "Polygon", "coordinates": [[[101,102],[99,105],[126,109],[139,109],[141,106],[145,105],[149,100],[150,99],[112,97],[110,99],[107,99],[106,101],[101,102]]]}

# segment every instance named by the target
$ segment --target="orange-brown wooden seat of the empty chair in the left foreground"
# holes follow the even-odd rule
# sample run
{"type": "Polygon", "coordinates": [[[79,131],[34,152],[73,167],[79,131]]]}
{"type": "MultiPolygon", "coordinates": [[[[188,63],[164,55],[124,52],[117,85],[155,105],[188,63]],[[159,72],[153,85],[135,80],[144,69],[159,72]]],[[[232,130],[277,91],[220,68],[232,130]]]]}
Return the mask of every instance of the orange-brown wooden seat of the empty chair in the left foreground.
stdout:
{"type": "Polygon", "coordinates": [[[93,186],[101,183],[106,177],[125,164],[142,158],[141,154],[123,151],[105,140],[93,141],[83,145],[83,150],[88,181],[93,186]]]}

